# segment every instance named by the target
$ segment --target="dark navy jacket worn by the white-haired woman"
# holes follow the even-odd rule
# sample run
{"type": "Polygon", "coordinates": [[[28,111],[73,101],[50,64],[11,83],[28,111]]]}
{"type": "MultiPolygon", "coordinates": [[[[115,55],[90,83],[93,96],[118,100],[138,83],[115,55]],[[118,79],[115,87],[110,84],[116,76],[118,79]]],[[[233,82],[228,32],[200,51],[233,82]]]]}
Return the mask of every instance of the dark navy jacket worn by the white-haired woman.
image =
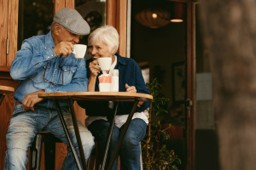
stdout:
{"type": "MultiPolygon", "coordinates": [[[[117,64],[114,69],[119,70],[119,92],[126,92],[125,83],[129,86],[135,86],[137,93],[149,94],[148,88],[145,85],[143,74],[140,67],[137,65],[134,59],[128,59],[117,56],[117,64]]],[[[90,77],[89,64],[92,59],[86,60],[87,77],[90,77]]],[[[95,91],[99,91],[99,80],[98,77],[102,75],[102,71],[96,78],[95,91]]],[[[79,101],[78,104],[83,107],[86,111],[87,116],[108,116],[112,111],[108,108],[108,101],[79,101]]],[[[119,102],[117,115],[127,115],[131,112],[133,102],[119,102]]],[[[151,101],[144,102],[141,107],[137,107],[136,112],[142,112],[148,109],[151,105],[151,101]]]]}

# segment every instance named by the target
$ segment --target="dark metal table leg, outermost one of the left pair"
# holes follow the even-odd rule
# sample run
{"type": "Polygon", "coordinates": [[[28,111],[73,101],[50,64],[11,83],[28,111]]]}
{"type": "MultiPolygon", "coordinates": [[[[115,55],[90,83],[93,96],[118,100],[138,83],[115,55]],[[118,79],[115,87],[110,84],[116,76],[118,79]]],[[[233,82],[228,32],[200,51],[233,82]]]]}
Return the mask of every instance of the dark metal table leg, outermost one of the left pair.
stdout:
{"type": "Polygon", "coordinates": [[[76,153],[76,150],[75,150],[74,147],[73,147],[72,140],[71,140],[70,135],[69,135],[69,133],[68,133],[66,122],[65,122],[64,117],[63,117],[63,115],[62,115],[62,113],[61,113],[61,107],[60,107],[60,105],[59,105],[57,99],[53,99],[53,100],[54,100],[54,102],[55,102],[56,110],[57,110],[58,115],[59,115],[59,117],[60,117],[60,119],[61,119],[61,125],[62,125],[62,127],[63,127],[63,129],[64,129],[65,134],[66,134],[67,142],[68,142],[68,144],[69,144],[69,146],[70,146],[70,148],[71,148],[71,150],[72,150],[72,153],[73,153],[73,156],[74,156],[74,158],[75,158],[76,164],[77,164],[79,170],[83,170],[82,167],[81,167],[81,165],[80,165],[80,162],[79,162],[79,157],[78,157],[78,155],[77,155],[77,153],[76,153]]]}

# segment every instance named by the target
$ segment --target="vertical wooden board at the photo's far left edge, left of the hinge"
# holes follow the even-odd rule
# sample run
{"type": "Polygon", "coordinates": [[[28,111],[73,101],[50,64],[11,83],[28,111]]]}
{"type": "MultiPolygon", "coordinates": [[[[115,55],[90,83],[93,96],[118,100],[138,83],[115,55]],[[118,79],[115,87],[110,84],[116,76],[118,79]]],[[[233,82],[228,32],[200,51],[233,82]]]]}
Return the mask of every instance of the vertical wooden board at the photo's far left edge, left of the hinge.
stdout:
{"type": "Polygon", "coordinates": [[[0,65],[6,65],[6,39],[8,21],[8,1],[0,0],[0,65]]]}

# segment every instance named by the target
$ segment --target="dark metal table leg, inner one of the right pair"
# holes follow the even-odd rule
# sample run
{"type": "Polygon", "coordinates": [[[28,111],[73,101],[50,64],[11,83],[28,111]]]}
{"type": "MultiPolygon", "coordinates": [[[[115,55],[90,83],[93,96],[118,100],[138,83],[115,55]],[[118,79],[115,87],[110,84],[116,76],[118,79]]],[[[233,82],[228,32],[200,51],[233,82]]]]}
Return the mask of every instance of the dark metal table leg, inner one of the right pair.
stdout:
{"type": "Polygon", "coordinates": [[[99,169],[104,170],[105,169],[105,163],[106,163],[106,159],[108,156],[108,147],[109,147],[109,143],[110,143],[110,139],[111,139],[111,135],[112,135],[112,131],[113,131],[113,123],[115,120],[115,116],[116,116],[116,112],[119,106],[119,102],[113,102],[113,108],[115,108],[115,111],[113,113],[113,117],[111,119],[110,122],[110,126],[108,127],[108,139],[107,139],[107,144],[105,146],[105,153],[102,159],[102,164],[100,165],[99,169]]]}

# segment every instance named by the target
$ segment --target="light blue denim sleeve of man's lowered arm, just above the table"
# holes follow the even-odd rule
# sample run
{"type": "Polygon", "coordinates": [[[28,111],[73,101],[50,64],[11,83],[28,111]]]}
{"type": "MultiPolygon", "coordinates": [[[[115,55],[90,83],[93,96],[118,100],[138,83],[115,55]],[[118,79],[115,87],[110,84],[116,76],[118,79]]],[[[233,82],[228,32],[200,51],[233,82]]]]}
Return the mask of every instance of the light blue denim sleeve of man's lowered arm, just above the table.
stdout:
{"type": "Polygon", "coordinates": [[[87,92],[88,78],[85,68],[85,59],[79,59],[77,71],[73,74],[72,81],[64,86],[45,88],[46,93],[51,92],[87,92]]]}

